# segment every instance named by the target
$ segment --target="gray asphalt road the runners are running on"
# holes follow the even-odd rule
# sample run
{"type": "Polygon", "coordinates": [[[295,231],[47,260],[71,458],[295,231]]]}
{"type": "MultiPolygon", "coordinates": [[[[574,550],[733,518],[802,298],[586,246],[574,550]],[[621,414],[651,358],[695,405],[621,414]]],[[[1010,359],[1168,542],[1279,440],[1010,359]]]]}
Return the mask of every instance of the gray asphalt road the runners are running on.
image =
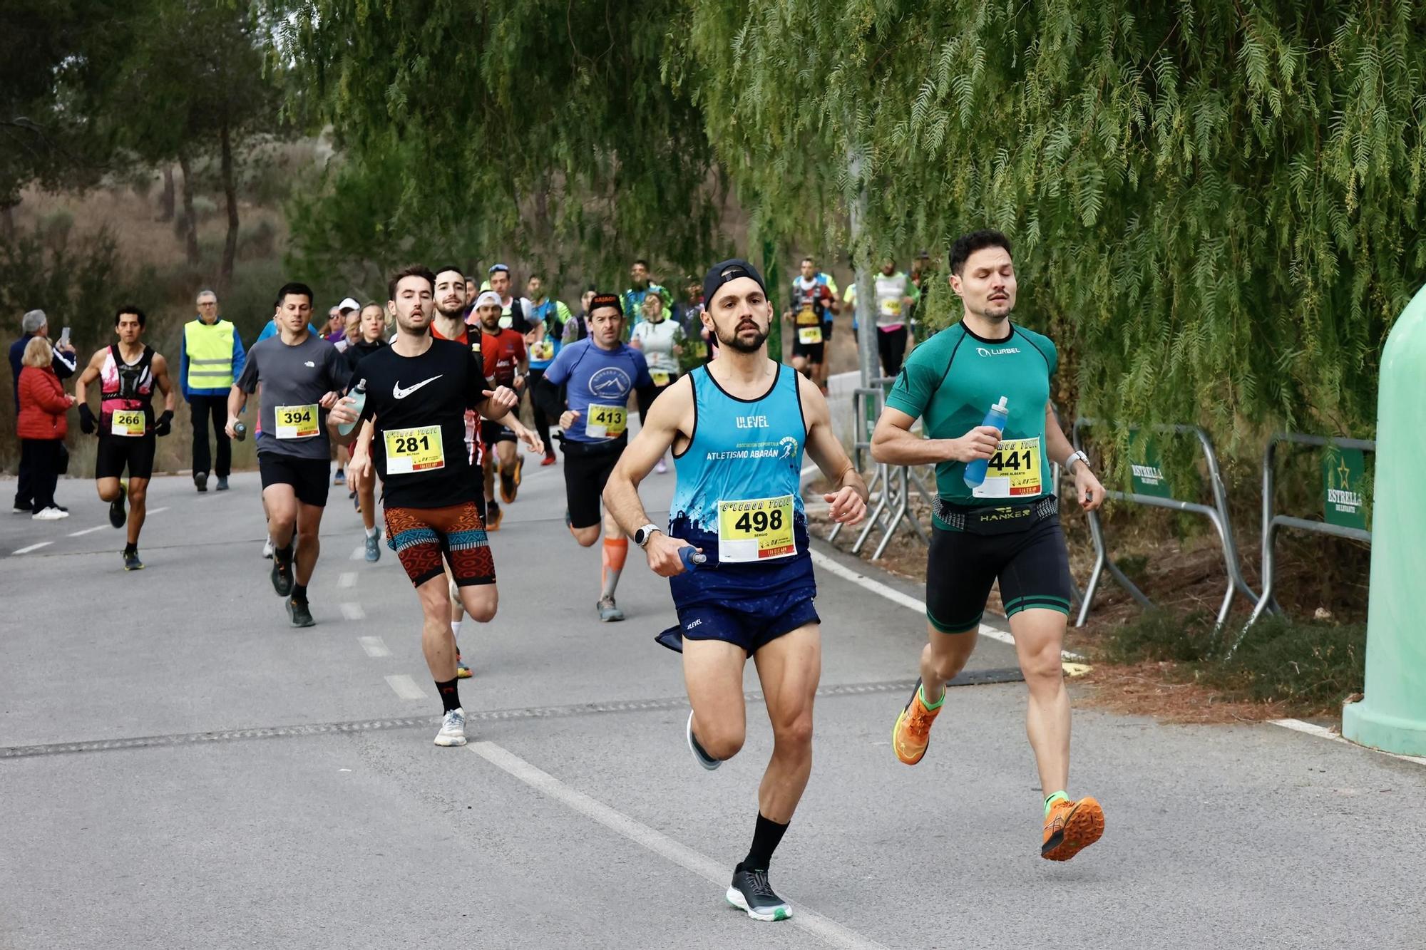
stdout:
{"type": "Polygon", "coordinates": [[[756,923],[723,890],[770,750],[757,698],[743,753],[697,767],[652,640],[667,588],[636,551],[629,619],[595,619],[599,553],[563,528],[559,468],[526,469],[492,535],[465,749],[431,742],[415,595],[389,551],[359,559],[342,489],[307,630],[258,553],[255,475],[155,479],[137,573],[90,482],[60,501],[63,522],[0,515],[4,950],[1426,946],[1426,769],[1077,708],[1071,793],[1108,832],[1052,864],[1012,650],[983,639],[988,682],[950,692],[907,769],[888,739],[923,620],[827,571],[817,763],[773,863],[797,917],[756,923]]]}

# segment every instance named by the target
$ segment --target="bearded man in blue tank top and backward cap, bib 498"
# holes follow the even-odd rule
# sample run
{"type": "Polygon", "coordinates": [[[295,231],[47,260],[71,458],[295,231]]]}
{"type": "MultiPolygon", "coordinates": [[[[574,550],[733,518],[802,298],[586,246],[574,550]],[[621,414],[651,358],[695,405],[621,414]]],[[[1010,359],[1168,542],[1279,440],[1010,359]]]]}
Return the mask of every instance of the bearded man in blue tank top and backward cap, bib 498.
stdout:
{"type": "Polygon", "coordinates": [[[650,407],[609,476],[605,504],[649,566],[669,578],[693,706],[684,736],[699,765],[716,769],[743,747],[747,658],[756,658],[764,683],[777,685],[764,690],[776,742],[753,844],[726,897],[756,920],[786,920],[791,909],[769,884],[767,866],[807,787],[821,670],[803,451],[836,485],[824,495],[833,521],[861,521],[867,486],[831,431],[817,385],[767,358],[774,315],[757,270],[739,260],[714,264],[703,300],[703,325],[720,355],[650,407]],[[649,523],[637,486],[670,446],[677,485],[665,531],[649,523]],[[706,561],[689,571],[683,558],[692,549],[706,561]]]}

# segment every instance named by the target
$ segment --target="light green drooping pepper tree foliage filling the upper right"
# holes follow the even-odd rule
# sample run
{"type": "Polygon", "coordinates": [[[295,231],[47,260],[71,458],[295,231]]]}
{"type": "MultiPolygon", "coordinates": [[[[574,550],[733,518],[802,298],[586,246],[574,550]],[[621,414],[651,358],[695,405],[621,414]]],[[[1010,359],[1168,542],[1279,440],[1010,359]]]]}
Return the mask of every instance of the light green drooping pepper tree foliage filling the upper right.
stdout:
{"type": "MultiPolygon", "coordinates": [[[[759,224],[998,227],[1084,415],[1370,435],[1426,271],[1426,6],[690,3],[673,70],[759,224]],[[861,178],[848,155],[861,157],[861,178]],[[1068,371],[1068,374],[1065,372],[1068,371]]],[[[945,307],[943,320],[954,320],[945,307]]],[[[1068,391],[1064,391],[1068,384],[1068,391]]]]}

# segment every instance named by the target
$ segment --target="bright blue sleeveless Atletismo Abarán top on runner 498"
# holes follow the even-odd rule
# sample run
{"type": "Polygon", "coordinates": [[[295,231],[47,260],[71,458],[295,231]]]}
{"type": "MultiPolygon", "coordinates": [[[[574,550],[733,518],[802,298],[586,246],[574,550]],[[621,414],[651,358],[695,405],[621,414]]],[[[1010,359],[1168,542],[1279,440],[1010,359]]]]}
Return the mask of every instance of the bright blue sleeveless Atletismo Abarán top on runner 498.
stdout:
{"type": "Polygon", "coordinates": [[[773,385],[757,399],[729,395],[706,367],[699,367],[689,378],[693,384],[693,438],[673,456],[677,485],[669,508],[669,536],[702,548],[707,562],[669,579],[674,603],[753,601],[796,589],[814,595],[807,512],[800,492],[807,424],[797,372],[779,365],[773,385]],[[781,541],[790,543],[777,546],[777,532],[763,542],[734,536],[730,541],[743,546],[737,556],[749,559],[727,561],[724,555],[733,551],[720,552],[719,502],[789,495],[790,501],[776,515],[770,505],[749,505],[744,511],[733,505],[724,511],[724,526],[734,529],[730,535],[739,522],[744,532],[770,525],[781,529],[783,511],[791,511],[791,532],[781,532],[781,541]],[[764,543],[771,546],[764,548],[764,543]]]}

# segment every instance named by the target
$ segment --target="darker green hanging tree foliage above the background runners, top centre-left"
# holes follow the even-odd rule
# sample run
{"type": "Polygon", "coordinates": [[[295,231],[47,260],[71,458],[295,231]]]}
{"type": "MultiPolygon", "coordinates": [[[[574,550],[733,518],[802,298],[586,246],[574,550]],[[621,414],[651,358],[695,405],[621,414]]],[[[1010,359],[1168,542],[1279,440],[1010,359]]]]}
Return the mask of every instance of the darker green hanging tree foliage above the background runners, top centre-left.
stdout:
{"type": "Polygon", "coordinates": [[[622,280],[633,257],[702,260],[712,148],[697,108],[660,80],[677,10],[297,0],[291,106],[332,123],[344,153],[335,218],[319,197],[299,204],[298,248],[321,257],[328,225],[355,224],[322,262],[513,251],[558,271],[568,247],[588,278],[622,280]]]}

